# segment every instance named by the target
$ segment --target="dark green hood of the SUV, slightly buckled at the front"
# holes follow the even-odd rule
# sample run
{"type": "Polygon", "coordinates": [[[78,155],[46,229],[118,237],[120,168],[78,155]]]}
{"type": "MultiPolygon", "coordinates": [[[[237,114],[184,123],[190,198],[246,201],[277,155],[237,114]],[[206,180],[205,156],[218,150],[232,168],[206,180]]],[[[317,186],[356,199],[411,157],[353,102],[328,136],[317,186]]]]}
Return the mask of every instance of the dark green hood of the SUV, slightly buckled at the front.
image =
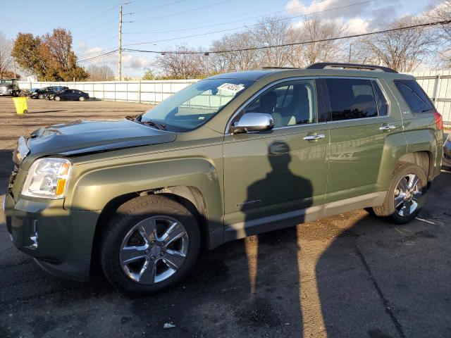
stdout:
{"type": "Polygon", "coordinates": [[[173,142],[177,134],[130,120],[77,120],[39,128],[30,134],[30,154],[75,155],[173,142]]]}

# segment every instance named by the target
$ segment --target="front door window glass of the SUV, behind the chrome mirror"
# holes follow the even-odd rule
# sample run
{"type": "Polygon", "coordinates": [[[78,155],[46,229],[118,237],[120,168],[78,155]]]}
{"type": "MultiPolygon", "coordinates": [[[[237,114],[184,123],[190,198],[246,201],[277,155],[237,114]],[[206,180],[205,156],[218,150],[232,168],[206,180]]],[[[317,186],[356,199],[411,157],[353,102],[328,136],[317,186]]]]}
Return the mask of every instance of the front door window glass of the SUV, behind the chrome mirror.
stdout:
{"type": "Polygon", "coordinates": [[[268,113],[274,127],[316,123],[314,80],[285,82],[273,87],[249,104],[244,113],[268,113]]]}

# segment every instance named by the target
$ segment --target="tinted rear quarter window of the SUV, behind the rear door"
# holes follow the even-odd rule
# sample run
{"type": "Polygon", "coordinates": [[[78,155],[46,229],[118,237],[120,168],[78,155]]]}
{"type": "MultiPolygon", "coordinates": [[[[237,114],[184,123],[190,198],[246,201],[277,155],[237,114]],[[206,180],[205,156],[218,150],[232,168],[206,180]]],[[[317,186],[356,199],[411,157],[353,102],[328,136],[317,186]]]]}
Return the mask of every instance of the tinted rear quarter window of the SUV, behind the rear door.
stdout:
{"type": "Polygon", "coordinates": [[[431,100],[415,80],[395,80],[395,85],[412,113],[426,113],[433,110],[431,100]]]}

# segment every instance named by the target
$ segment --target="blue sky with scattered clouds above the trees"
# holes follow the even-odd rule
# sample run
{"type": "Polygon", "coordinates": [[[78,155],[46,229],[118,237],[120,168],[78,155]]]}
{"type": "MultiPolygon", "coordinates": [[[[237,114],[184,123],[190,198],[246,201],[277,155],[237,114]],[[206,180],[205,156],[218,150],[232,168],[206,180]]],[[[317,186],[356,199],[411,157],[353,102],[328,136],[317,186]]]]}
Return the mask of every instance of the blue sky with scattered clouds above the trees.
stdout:
{"type": "MultiPolygon", "coordinates": [[[[109,65],[117,73],[116,54],[83,61],[118,48],[118,12],[123,4],[123,48],[171,50],[176,44],[208,49],[211,41],[271,15],[292,17],[292,25],[316,13],[347,25],[349,33],[374,30],[404,15],[430,10],[434,0],[78,0],[42,3],[1,0],[0,32],[43,35],[66,27],[80,65],[109,65]],[[302,16],[304,15],[304,16],[302,16]],[[194,36],[193,36],[194,35],[194,36]]],[[[152,68],[154,54],[123,52],[123,76],[139,77],[152,68]]]]}

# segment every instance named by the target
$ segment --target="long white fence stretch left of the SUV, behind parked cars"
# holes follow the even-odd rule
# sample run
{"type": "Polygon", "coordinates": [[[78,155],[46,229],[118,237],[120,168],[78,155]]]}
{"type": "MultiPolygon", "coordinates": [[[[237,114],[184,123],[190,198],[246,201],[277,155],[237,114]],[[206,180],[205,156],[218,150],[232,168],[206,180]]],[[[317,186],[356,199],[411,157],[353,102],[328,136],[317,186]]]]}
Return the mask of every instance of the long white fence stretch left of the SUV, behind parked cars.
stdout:
{"type": "Polygon", "coordinates": [[[66,86],[79,89],[90,97],[108,101],[130,101],[158,104],[198,80],[105,81],[105,82],[27,82],[19,81],[21,89],[66,86]]]}

